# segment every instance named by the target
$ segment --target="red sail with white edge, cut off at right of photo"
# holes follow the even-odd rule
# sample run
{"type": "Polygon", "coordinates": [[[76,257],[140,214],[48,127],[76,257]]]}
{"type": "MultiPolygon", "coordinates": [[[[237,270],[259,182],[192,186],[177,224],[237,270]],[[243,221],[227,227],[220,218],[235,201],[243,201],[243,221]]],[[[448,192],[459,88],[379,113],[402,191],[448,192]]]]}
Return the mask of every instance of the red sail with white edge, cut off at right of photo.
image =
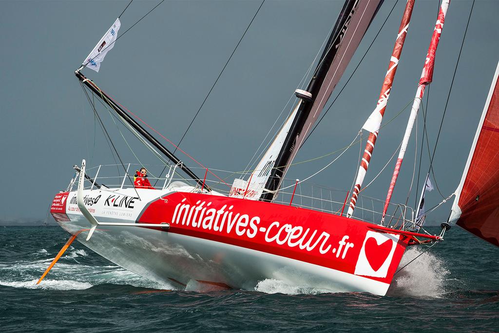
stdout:
{"type": "Polygon", "coordinates": [[[499,246],[499,63],[450,220],[499,246]]]}

